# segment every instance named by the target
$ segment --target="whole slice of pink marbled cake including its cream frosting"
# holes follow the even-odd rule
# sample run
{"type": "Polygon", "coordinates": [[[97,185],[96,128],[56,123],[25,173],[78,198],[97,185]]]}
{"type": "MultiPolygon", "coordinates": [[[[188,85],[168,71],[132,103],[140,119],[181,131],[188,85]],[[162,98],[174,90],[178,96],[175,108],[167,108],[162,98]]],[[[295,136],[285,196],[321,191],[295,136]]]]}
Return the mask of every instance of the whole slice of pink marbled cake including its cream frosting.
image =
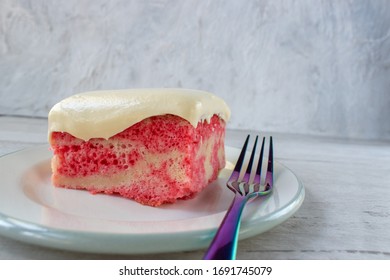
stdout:
{"type": "Polygon", "coordinates": [[[229,117],[222,99],[196,90],[71,96],[49,113],[53,184],[150,206],[191,198],[225,165],[229,117]]]}

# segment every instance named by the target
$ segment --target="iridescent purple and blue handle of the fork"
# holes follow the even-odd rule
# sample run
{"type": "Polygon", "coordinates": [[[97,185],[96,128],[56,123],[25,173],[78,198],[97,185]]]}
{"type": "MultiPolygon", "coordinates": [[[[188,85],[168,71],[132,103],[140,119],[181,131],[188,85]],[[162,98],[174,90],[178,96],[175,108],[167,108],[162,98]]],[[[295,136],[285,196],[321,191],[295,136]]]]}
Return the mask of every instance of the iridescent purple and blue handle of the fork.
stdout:
{"type": "Polygon", "coordinates": [[[241,213],[247,197],[236,193],[222,223],[207,250],[204,260],[234,260],[236,258],[241,213]]]}

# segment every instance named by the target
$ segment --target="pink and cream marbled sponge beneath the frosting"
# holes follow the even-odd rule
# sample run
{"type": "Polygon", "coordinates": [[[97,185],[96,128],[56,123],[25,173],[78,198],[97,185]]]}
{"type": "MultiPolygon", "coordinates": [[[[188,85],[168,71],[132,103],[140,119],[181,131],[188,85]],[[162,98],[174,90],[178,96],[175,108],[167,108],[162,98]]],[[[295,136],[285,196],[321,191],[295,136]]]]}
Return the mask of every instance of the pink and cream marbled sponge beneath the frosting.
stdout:
{"type": "Polygon", "coordinates": [[[146,118],[107,140],[53,132],[53,183],[151,206],[186,199],[224,167],[224,134],[225,121],[217,115],[194,127],[170,114],[146,118]]]}

